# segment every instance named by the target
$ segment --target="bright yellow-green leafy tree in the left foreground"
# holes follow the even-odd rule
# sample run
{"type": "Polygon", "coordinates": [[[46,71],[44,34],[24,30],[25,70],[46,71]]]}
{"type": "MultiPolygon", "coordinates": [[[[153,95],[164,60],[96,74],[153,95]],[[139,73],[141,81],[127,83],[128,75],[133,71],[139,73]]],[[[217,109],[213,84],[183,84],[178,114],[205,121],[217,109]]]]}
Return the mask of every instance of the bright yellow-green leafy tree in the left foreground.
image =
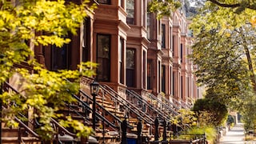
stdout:
{"type": "Polygon", "coordinates": [[[34,59],[34,51],[30,46],[61,47],[70,42],[70,39],[65,38],[66,34],[76,34],[95,5],[89,6],[90,1],[74,4],[64,0],[12,2],[0,2],[0,82],[6,82],[14,74],[19,75],[22,91],[20,94],[6,91],[0,95],[6,106],[3,120],[11,126],[18,126],[14,116],[33,108],[33,117],[42,123],[37,130],[42,138],[51,138],[54,134],[51,118],[63,126],[73,127],[78,136],[88,136],[90,128],[71,118],[63,119],[57,111],[65,107],[65,102],[74,102],[71,94],[78,93],[78,78],[94,74],[92,68],[95,64],[82,63],[78,70],[48,71],[34,59]],[[30,46],[27,42],[30,42],[30,46]],[[26,63],[30,70],[17,66],[22,63],[26,63]],[[73,82],[67,82],[66,79],[72,79],[73,82]]]}

